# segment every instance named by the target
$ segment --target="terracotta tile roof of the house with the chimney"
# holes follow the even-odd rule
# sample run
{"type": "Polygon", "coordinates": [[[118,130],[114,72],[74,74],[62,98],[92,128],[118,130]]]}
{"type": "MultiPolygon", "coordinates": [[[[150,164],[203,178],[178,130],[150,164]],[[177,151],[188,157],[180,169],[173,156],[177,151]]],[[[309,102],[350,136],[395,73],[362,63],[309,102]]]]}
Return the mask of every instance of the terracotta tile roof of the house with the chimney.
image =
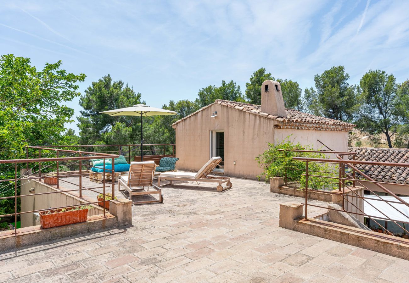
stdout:
{"type": "MultiPolygon", "coordinates": [[[[274,119],[281,123],[276,123],[274,125],[275,128],[289,128],[289,129],[308,129],[308,130],[332,130],[332,131],[349,131],[355,128],[356,125],[346,123],[339,120],[329,119],[326,117],[319,117],[315,115],[311,115],[308,113],[299,112],[294,109],[285,109],[287,113],[287,117],[277,117],[268,113],[261,112],[261,106],[256,104],[250,103],[241,103],[236,101],[229,101],[229,100],[222,100],[217,99],[214,103],[218,103],[223,106],[227,106],[230,108],[235,108],[238,110],[242,110],[245,112],[252,113],[254,115],[260,115],[262,117],[274,119]]],[[[213,105],[210,104],[209,106],[213,105]]],[[[206,106],[191,115],[195,115],[197,112],[209,107],[206,106]]],[[[187,117],[191,116],[188,115],[187,117]]],[[[186,119],[180,119],[176,121],[173,125],[179,123],[180,121],[186,119]]]]}

